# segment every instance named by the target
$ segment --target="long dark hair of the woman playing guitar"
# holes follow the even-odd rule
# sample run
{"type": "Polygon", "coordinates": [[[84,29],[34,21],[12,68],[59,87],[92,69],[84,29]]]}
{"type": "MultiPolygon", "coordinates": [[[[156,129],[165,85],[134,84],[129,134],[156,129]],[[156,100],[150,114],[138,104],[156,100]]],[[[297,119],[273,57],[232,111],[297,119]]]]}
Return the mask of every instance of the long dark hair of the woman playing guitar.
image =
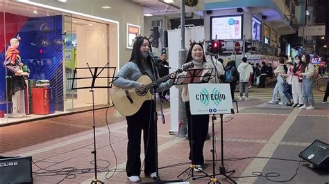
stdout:
{"type": "MultiPolygon", "coordinates": [[[[151,57],[148,56],[148,57],[144,58],[144,56],[140,53],[140,47],[144,43],[144,39],[146,39],[149,42],[149,44],[151,43],[149,41],[149,39],[146,37],[137,37],[137,39],[133,45],[133,51],[131,52],[131,56],[129,59],[129,62],[135,62],[135,64],[137,64],[138,68],[140,68],[140,71],[144,71],[144,66],[142,64],[144,59],[146,60],[146,64],[148,64],[149,67],[152,68],[151,57]]],[[[152,53],[151,44],[149,45],[149,48],[152,53]]]]}

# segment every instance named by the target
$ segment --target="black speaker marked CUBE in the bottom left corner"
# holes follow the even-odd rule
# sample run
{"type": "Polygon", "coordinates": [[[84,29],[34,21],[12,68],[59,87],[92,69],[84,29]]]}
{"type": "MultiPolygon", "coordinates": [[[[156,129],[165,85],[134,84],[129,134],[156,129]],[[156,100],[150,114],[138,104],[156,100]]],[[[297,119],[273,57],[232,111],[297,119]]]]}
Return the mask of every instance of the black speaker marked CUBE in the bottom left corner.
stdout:
{"type": "Polygon", "coordinates": [[[0,156],[0,183],[33,183],[32,157],[0,156]]]}

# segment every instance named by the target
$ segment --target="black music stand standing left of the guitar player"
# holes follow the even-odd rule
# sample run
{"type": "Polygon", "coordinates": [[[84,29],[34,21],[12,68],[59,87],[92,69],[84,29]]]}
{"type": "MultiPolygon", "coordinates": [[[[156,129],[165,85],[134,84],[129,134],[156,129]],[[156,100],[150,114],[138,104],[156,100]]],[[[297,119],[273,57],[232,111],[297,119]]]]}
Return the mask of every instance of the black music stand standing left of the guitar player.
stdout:
{"type": "Polygon", "coordinates": [[[96,162],[96,126],[95,126],[95,107],[94,107],[94,88],[112,88],[112,82],[117,79],[117,77],[114,77],[115,75],[115,67],[110,67],[108,66],[109,63],[107,63],[104,67],[90,67],[89,64],[87,63],[88,67],[81,67],[81,68],[74,68],[74,75],[73,78],[69,78],[68,80],[73,80],[72,81],[72,87],[71,89],[90,89],[90,92],[92,92],[92,120],[93,120],[93,125],[92,129],[94,131],[94,150],[92,151],[92,154],[94,154],[94,170],[95,170],[95,178],[92,180],[91,183],[103,183],[97,178],[97,162],[96,162]],[[91,77],[76,77],[77,71],[85,71],[89,70],[91,77]],[[94,71],[92,71],[94,69],[94,71]],[[99,71],[99,69],[101,69],[99,71]],[[100,77],[99,75],[101,74],[104,69],[107,69],[108,73],[112,72],[112,76],[106,76],[106,77],[100,77]],[[112,71],[110,71],[112,69],[112,71]],[[81,87],[74,87],[74,81],[76,80],[90,80],[92,79],[92,82],[90,86],[81,86],[81,87]],[[96,79],[107,79],[107,85],[106,86],[95,86],[96,79]]]}

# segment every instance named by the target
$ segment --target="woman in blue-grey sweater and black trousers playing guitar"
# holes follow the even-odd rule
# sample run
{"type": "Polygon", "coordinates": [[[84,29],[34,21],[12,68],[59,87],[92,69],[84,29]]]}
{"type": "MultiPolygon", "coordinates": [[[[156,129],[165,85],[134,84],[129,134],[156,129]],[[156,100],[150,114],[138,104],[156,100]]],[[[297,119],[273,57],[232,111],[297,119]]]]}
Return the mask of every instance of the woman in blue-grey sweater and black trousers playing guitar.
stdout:
{"type": "MultiPolygon", "coordinates": [[[[117,80],[113,85],[119,86],[123,89],[137,89],[137,91],[144,91],[146,85],[136,80],[142,75],[149,75],[153,80],[153,69],[151,58],[147,54],[151,51],[149,39],[146,37],[137,37],[133,44],[131,57],[120,71],[115,75],[117,80]]],[[[156,68],[156,67],[155,67],[156,68]]],[[[155,70],[156,71],[156,70],[155,70]]],[[[174,77],[174,74],[171,75],[174,77]]],[[[159,91],[169,89],[174,80],[168,80],[158,84],[159,91]]],[[[140,160],[140,143],[141,134],[143,130],[144,151],[145,151],[145,176],[155,178],[156,163],[155,163],[155,120],[154,120],[154,100],[146,100],[140,110],[132,116],[126,116],[127,133],[128,133],[128,149],[127,149],[127,163],[126,174],[131,182],[140,181],[141,160],[140,160]]]]}

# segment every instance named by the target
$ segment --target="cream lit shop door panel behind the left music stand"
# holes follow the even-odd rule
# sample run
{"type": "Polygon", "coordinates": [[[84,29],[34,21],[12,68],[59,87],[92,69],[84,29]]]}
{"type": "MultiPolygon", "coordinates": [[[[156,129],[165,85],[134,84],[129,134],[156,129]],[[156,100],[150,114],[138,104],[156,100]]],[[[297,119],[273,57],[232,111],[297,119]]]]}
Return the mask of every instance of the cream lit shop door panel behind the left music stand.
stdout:
{"type": "MultiPolygon", "coordinates": [[[[76,29],[77,38],[77,67],[87,67],[87,63],[91,67],[105,66],[108,62],[107,55],[107,27],[105,24],[97,24],[92,22],[85,26],[78,26],[76,29]]],[[[94,69],[92,69],[94,71],[94,69]]],[[[101,73],[102,77],[107,76],[107,71],[101,73]]],[[[89,70],[80,70],[78,77],[91,77],[89,70]]],[[[90,86],[92,80],[78,80],[79,86],[90,86]]],[[[107,80],[96,80],[95,86],[106,86],[107,80]]],[[[108,89],[94,89],[94,103],[108,104],[108,89]]],[[[76,107],[84,107],[92,105],[92,93],[90,89],[79,89],[77,91],[76,107]]]]}

